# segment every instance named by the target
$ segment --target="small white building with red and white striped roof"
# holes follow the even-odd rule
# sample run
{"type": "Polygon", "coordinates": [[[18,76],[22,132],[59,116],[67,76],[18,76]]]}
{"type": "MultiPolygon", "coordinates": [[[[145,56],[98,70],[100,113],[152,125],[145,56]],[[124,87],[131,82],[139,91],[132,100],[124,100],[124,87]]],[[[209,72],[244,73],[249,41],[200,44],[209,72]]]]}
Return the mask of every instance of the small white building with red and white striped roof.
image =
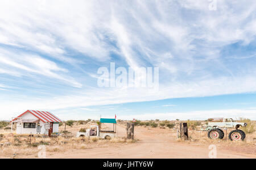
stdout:
{"type": "Polygon", "coordinates": [[[27,110],[11,121],[16,123],[16,134],[44,134],[59,132],[61,119],[49,111],[27,110]]]}

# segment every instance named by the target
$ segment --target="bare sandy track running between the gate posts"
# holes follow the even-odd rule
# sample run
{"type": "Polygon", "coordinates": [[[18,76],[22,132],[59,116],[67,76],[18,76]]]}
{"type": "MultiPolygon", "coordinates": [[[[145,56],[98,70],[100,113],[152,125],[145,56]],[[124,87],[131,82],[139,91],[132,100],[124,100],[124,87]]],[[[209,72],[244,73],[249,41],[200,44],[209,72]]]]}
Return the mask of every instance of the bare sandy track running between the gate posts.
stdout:
{"type": "MultiPolygon", "coordinates": [[[[117,129],[118,136],[125,136],[125,127],[119,125],[117,129]]],[[[209,158],[208,144],[193,146],[177,142],[169,129],[135,127],[135,138],[136,143],[51,152],[47,153],[47,158],[209,158]]],[[[217,147],[217,158],[256,158],[256,153],[240,154],[217,147]]]]}

